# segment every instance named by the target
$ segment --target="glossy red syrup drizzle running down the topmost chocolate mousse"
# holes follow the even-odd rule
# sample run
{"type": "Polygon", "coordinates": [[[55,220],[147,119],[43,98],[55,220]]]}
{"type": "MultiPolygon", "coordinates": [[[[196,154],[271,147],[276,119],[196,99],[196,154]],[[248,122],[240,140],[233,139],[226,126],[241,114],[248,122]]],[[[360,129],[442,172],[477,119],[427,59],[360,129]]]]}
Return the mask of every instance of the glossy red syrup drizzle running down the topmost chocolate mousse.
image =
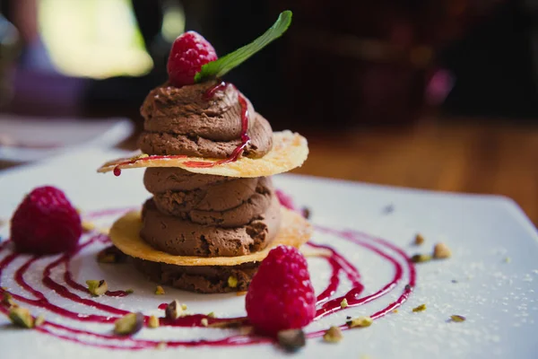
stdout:
{"type": "Polygon", "coordinates": [[[215,84],[204,93],[204,99],[211,100],[216,92],[224,91],[228,86],[233,86],[233,88],[238,92],[238,101],[239,105],[241,106],[241,144],[239,144],[239,146],[233,150],[228,158],[216,162],[187,161],[184,162],[186,166],[195,168],[210,168],[222,163],[236,162],[241,154],[245,151],[245,148],[247,148],[247,145],[250,143],[250,137],[248,136],[247,99],[245,99],[245,96],[239,93],[238,89],[233,84],[225,82],[215,84]]]}

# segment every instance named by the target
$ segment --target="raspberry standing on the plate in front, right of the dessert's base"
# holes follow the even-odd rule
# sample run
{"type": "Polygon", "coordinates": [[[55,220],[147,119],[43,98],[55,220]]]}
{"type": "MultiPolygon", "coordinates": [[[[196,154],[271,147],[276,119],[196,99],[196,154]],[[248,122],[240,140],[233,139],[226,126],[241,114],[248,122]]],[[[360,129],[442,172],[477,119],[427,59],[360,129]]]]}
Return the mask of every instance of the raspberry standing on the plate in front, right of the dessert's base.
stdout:
{"type": "Polygon", "coordinates": [[[252,278],[246,307],[251,324],[268,335],[314,320],[316,296],[299,250],[279,246],[269,252],[252,278]]]}

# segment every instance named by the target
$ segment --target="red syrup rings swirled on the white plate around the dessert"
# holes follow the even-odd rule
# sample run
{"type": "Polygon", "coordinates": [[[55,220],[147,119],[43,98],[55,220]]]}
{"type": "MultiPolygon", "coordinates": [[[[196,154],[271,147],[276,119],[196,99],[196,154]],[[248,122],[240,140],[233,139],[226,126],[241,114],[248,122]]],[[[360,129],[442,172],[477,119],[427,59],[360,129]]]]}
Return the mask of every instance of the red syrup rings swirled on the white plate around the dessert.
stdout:
{"type": "MultiPolygon", "coordinates": [[[[96,212],[87,217],[96,218],[100,215],[117,215],[117,213],[123,213],[126,210],[106,210],[96,212]]],[[[374,320],[382,318],[390,311],[394,311],[401,306],[412,293],[416,282],[416,273],[412,262],[409,260],[404,250],[401,250],[392,243],[374,238],[368,234],[352,231],[339,231],[331,228],[317,226],[318,233],[333,235],[336,237],[335,241],[349,241],[360,250],[367,250],[372,256],[377,256],[384,260],[389,266],[393,267],[393,276],[385,284],[377,290],[369,291],[369,295],[363,295],[365,292],[364,285],[361,284],[360,272],[343,254],[334,250],[331,247],[325,245],[319,245],[315,243],[309,243],[316,248],[323,248],[330,251],[330,256],[326,257],[327,263],[331,267],[331,276],[325,286],[325,289],[317,295],[317,315],[315,320],[319,320],[322,317],[333,314],[337,311],[345,311],[340,306],[343,298],[347,299],[348,308],[356,307],[367,302],[373,302],[387,293],[391,293],[398,285],[402,285],[404,278],[405,287],[402,289],[400,295],[394,302],[388,304],[385,308],[370,314],[370,317],[374,320]],[[351,289],[347,293],[343,293],[338,297],[334,297],[340,286],[340,281],[343,277],[346,277],[351,283],[351,289]]],[[[36,328],[39,332],[48,334],[52,337],[72,341],[87,346],[99,346],[109,349],[124,349],[124,350],[142,350],[148,348],[155,348],[160,345],[160,341],[146,340],[134,337],[118,337],[112,332],[112,323],[117,320],[118,317],[125,315],[129,312],[127,309],[120,309],[117,306],[121,303],[121,297],[127,295],[124,291],[108,292],[107,296],[119,297],[117,298],[117,306],[108,305],[100,302],[100,298],[91,298],[86,286],[77,283],[71,274],[70,267],[71,261],[75,256],[79,255],[79,252],[86,248],[96,247],[95,251],[100,250],[104,246],[108,246],[108,238],[102,234],[92,236],[86,241],[82,241],[79,249],[72,254],[65,254],[59,257],[53,257],[49,261],[48,265],[41,271],[41,283],[50,289],[50,292],[43,293],[39,291],[34,285],[26,280],[27,276],[35,277],[39,272],[36,272],[36,262],[40,260],[48,260],[48,257],[35,257],[28,256],[19,253],[12,252],[9,241],[0,243],[0,295],[4,292],[11,293],[13,299],[16,302],[25,303],[24,306],[30,308],[42,308],[55,315],[48,314],[48,320],[43,325],[36,328]],[[23,259],[23,260],[21,260],[23,259]],[[4,275],[6,269],[9,269],[9,275],[4,275]],[[33,270],[32,270],[33,269],[33,270]],[[62,274],[63,282],[58,283],[51,273],[62,274]],[[2,287],[2,280],[6,276],[13,276],[16,283],[21,287],[21,291],[12,293],[2,287]],[[53,294],[54,291],[56,294],[53,294]],[[68,301],[75,302],[83,307],[92,309],[93,311],[100,312],[100,314],[85,314],[83,312],[69,311],[56,305],[52,302],[54,295],[60,295],[68,301]],[[56,322],[58,319],[67,319],[78,322],[94,322],[105,323],[108,325],[105,329],[99,331],[92,331],[82,328],[75,328],[73,324],[60,324],[56,322]],[[91,337],[92,340],[88,340],[91,337]]],[[[136,293],[132,294],[136,295],[136,293]]],[[[159,309],[166,308],[167,303],[159,305],[159,309]]],[[[0,311],[7,313],[7,309],[0,304],[0,311]]],[[[85,310],[84,312],[87,312],[85,310]]],[[[169,327],[202,327],[201,321],[207,319],[209,325],[213,323],[222,324],[247,324],[247,318],[208,318],[203,314],[188,315],[186,317],[178,318],[178,320],[166,320],[160,319],[161,326],[169,327]]],[[[146,318],[147,320],[147,318],[146,318]]],[[[65,321],[63,321],[65,323],[65,321]]],[[[80,327],[80,325],[78,326],[80,327]]],[[[348,327],[343,324],[341,326],[343,330],[348,327]]],[[[212,330],[212,328],[207,328],[212,330]]],[[[325,330],[311,331],[307,333],[308,337],[320,337],[323,336],[325,330]]],[[[221,339],[200,339],[200,340],[172,340],[166,344],[168,347],[176,346],[238,346],[238,345],[252,345],[257,343],[269,343],[273,339],[269,337],[256,337],[255,335],[234,335],[230,337],[224,337],[221,339]]]]}

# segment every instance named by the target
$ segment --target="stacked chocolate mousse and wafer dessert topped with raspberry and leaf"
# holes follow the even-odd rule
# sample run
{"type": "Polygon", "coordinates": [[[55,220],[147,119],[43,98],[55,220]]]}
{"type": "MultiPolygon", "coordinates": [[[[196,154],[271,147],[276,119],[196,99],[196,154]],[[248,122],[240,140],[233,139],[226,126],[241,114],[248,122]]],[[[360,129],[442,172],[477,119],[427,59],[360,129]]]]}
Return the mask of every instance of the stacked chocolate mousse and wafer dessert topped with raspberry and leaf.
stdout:
{"type": "Polygon", "coordinates": [[[152,197],[141,213],[120,218],[110,239],[152,281],[198,293],[246,291],[271,248],[308,241],[308,223],[281,206],[271,179],[305,161],[306,140],[273,134],[252,103],[220,79],[223,66],[239,65],[290,21],[291,13],[282,13],[262,37],[221,59],[199,34],[178,37],[169,82],[143,101],[143,154],[100,168],[119,175],[146,167],[152,197]]]}

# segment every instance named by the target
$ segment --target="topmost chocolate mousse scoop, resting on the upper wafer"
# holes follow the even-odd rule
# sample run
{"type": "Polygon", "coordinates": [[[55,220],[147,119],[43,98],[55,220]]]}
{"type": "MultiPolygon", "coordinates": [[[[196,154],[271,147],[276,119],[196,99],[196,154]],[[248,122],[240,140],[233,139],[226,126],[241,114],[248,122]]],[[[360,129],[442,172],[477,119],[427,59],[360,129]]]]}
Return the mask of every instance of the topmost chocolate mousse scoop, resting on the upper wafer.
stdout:
{"type": "MultiPolygon", "coordinates": [[[[230,157],[241,144],[243,109],[239,96],[243,95],[228,85],[208,96],[218,83],[209,81],[179,88],[165,83],[153,89],[141,108],[144,131],[138,144],[143,153],[230,157]]],[[[252,103],[246,103],[250,143],[242,155],[263,157],[273,147],[273,130],[252,103]]]]}

